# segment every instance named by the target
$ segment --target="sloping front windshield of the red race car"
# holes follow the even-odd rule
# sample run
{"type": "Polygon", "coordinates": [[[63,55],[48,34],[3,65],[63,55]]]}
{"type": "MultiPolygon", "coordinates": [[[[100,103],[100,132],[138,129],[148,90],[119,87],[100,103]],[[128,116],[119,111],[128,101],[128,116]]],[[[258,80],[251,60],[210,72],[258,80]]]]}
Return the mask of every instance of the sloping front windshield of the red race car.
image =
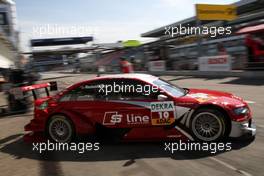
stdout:
{"type": "Polygon", "coordinates": [[[169,82],[162,80],[162,79],[157,79],[153,81],[153,84],[175,97],[181,97],[187,93],[187,90],[180,88],[178,86],[174,86],[170,84],[169,82]]]}

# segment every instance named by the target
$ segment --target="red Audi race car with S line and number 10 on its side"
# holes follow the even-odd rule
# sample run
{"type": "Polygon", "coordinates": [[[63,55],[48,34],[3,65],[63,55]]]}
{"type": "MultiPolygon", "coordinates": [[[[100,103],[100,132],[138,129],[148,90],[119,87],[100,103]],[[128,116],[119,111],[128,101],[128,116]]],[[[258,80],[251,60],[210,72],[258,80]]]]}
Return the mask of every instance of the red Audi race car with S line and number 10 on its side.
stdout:
{"type": "Polygon", "coordinates": [[[56,142],[69,142],[77,135],[211,142],[256,134],[243,99],[180,88],[147,74],[96,77],[36,99],[34,119],[25,130],[45,133],[56,142]]]}

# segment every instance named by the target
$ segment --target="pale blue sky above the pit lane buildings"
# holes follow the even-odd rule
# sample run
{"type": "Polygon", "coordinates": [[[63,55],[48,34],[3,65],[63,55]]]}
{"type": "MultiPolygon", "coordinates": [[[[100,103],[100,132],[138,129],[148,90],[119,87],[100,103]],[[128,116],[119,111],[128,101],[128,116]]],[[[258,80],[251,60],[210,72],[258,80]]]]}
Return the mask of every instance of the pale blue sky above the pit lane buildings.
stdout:
{"type": "Polygon", "coordinates": [[[96,43],[128,39],[148,41],[149,39],[140,38],[140,34],[193,16],[196,3],[230,4],[236,0],[15,0],[15,2],[22,49],[28,50],[28,41],[31,38],[93,35],[96,43]],[[57,32],[54,32],[55,29],[57,32]]]}

